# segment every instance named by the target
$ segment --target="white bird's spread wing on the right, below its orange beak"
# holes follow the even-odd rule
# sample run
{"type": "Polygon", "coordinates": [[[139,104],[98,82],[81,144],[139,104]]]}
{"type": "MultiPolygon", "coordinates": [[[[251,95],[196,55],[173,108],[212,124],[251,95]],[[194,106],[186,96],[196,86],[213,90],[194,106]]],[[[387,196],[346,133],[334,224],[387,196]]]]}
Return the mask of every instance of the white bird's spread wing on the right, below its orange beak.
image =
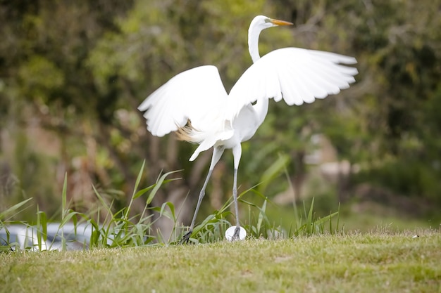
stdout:
{"type": "Polygon", "coordinates": [[[288,105],[312,103],[316,98],[349,88],[358,72],[355,58],[336,53],[281,48],[251,65],[228,95],[225,119],[235,117],[244,105],[261,98],[285,100],[288,105]]]}

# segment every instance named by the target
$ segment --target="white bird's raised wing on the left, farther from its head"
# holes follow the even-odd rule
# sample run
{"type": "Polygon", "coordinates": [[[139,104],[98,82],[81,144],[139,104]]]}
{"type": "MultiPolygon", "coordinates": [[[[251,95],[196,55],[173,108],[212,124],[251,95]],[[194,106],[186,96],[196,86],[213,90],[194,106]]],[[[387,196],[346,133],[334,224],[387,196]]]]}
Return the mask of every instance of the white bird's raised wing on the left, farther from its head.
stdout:
{"type": "Polygon", "coordinates": [[[185,126],[188,119],[197,128],[208,112],[225,103],[227,96],[218,69],[206,65],[175,75],[151,93],[138,110],[146,111],[151,134],[164,136],[185,126]]]}

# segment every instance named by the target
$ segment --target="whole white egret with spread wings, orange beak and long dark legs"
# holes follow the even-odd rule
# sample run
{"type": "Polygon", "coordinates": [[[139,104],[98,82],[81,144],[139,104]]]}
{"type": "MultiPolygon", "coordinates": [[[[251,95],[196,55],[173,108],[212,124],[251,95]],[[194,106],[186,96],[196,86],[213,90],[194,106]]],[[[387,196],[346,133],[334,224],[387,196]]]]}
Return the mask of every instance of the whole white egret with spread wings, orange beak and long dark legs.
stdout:
{"type": "Polygon", "coordinates": [[[237,169],[242,154],[241,143],[249,140],[262,124],[270,98],[277,102],[283,99],[287,105],[302,105],[337,94],[355,82],[356,68],[342,65],[356,63],[356,59],[349,56],[303,48],[280,48],[260,58],[259,34],[278,25],[292,23],[263,15],[251,21],[248,48],[254,64],[237,80],[230,93],[225,91],[218,69],[204,65],[175,75],[138,107],[145,111],[147,130],[154,136],[177,131],[180,139],[199,144],[190,161],[200,152],[213,148],[209,173],[199,193],[190,229],[182,241],[189,240],[213,168],[223,151],[229,148],[234,159],[232,196],[236,213],[232,240],[239,239],[237,169]]]}

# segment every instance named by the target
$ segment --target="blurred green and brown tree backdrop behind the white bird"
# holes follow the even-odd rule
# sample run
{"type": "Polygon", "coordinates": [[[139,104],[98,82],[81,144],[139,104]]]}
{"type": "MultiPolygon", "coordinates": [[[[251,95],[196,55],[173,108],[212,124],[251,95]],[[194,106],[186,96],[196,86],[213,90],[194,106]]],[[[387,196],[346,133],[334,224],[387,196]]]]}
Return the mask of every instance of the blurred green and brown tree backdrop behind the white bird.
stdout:
{"type": "MultiPolygon", "coordinates": [[[[333,51],[356,57],[359,75],[311,105],[272,102],[243,144],[240,192],[261,183],[276,225],[289,226],[293,202],[314,197],[318,216],[341,204],[350,230],[439,228],[440,13],[440,0],[0,1],[0,211],[32,197],[13,219],[34,221],[38,205],[59,220],[65,174],[72,209],[97,209],[92,185],[121,209],[145,159],[142,186],[182,170],[152,204],[173,202],[189,224],[211,150],[189,162],[195,146],[151,136],[137,105],[198,65],[216,65],[229,91],[251,65],[249,22],[267,15],[294,26],[265,30],[261,55],[287,46],[333,51]]],[[[225,152],[201,219],[231,188],[225,152]]]]}

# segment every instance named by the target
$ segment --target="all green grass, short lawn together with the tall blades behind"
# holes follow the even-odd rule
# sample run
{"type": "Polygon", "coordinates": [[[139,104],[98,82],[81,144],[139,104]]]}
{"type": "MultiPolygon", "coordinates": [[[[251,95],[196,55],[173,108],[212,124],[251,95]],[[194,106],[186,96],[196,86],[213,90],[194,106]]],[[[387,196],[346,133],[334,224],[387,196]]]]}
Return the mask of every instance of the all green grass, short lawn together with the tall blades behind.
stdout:
{"type": "MultiPolygon", "coordinates": [[[[272,222],[284,213],[272,215],[274,206],[263,195],[262,185],[240,195],[242,208],[248,209],[248,219],[243,219],[247,240],[223,240],[231,225],[230,199],[194,228],[192,245],[173,245],[183,233],[175,207],[170,202],[150,205],[156,191],[170,181],[170,173],[139,188],[143,169],[144,165],[132,200],[119,211],[95,190],[101,209],[107,211],[101,223],[95,220],[99,211],[81,214],[69,209],[66,178],[60,225],[70,221],[92,225],[91,249],[12,252],[3,247],[0,292],[441,292],[440,230],[414,228],[421,227],[415,223],[405,232],[383,222],[377,226],[386,228],[356,233],[342,227],[347,211],[340,213],[339,208],[316,216],[313,199],[302,207],[283,208],[290,221],[286,225],[272,222]],[[260,203],[247,200],[247,194],[260,203]],[[141,196],[144,211],[130,216],[133,200],[141,196]],[[156,220],[151,211],[173,220],[175,240],[152,235],[156,220]],[[285,234],[268,240],[278,226],[285,226],[285,234]]],[[[11,223],[28,202],[2,211],[0,226],[11,223]]],[[[37,207],[36,224],[44,240],[47,222],[37,207]]]]}

